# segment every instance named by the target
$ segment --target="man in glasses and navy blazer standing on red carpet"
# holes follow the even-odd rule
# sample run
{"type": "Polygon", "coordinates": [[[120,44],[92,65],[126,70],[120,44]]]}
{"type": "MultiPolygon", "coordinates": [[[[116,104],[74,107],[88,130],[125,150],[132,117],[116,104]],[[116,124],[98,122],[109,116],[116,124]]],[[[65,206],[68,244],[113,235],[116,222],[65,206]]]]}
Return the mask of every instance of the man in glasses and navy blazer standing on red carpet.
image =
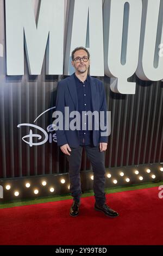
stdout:
{"type": "MultiPolygon", "coordinates": [[[[93,169],[95,210],[102,211],[109,217],[117,217],[118,213],[110,209],[105,203],[104,151],[107,148],[108,136],[102,136],[100,127],[95,130],[95,121],[93,120],[93,128],[90,130],[87,123],[87,115],[85,114],[87,111],[96,111],[98,113],[103,111],[106,115],[106,96],[103,83],[87,74],[89,65],[89,51],[84,47],[75,48],[72,52],[72,66],[75,72],[70,77],[60,81],[57,89],[56,111],[60,111],[63,114],[64,124],[65,107],[69,107],[70,113],[72,111],[80,113],[80,120],[78,119],[78,124],[80,123],[79,130],[56,130],[58,145],[61,151],[66,154],[69,163],[70,192],[73,197],[70,215],[75,217],[79,214],[80,194],[82,193],[80,166],[82,150],[85,147],[93,169]],[[83,116],[85,117],[84,120],[81,118],[83,116]]],[[[99,119],[98,122],[96,120],[96,123],[99,123],[99,119]]]]}

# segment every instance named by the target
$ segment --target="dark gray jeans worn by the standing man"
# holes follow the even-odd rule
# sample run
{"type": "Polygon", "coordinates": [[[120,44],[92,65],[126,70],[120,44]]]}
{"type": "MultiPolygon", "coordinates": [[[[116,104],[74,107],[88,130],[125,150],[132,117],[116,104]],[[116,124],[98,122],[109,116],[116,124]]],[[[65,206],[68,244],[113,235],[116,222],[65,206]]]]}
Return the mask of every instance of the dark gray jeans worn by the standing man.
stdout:
{"type": "Polygon", "coordinates": [[[74,200],[80,200],[81,181],[80,168],[82,162],[83,147],[86,149],[88,159],[92,164],[93,170],[93,191],[95,200],[98,205],[105,203],[105,162],[104,151],[99,151],[99,145],[93,147],[91,145],[80,145],[78,148],[71,148],[70,156],[66,155],[69,163],[70,192],[74,200]]]}

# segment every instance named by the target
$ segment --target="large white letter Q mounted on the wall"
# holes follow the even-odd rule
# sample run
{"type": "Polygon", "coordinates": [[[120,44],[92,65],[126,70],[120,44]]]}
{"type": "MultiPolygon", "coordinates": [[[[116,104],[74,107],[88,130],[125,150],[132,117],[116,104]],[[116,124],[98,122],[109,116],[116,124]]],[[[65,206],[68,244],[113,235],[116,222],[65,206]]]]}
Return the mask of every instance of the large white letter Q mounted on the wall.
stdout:
{"type": "Polygon", "coordinates": [[[115,77],[112,92],[135,94],[136,83],[127,81],[137,68],[141,30],[141,0],[105,0],[105,74],[115,77]]]}

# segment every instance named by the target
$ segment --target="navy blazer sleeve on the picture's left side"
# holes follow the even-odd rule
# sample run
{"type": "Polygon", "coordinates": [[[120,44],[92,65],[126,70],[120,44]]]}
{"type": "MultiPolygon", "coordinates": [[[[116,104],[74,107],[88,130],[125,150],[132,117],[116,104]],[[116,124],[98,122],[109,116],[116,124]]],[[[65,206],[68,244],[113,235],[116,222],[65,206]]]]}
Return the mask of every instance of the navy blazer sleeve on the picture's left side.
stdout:
{"type": "Polygon", "coordinates": [[[57,98],[56,98],[56,111],[60,111],[63,115],[63,130],[56,130],[57,144],[62,146],[67,144],[67,139],[65,135],[65,87],[61,82],[57,86],[57,98]]]}

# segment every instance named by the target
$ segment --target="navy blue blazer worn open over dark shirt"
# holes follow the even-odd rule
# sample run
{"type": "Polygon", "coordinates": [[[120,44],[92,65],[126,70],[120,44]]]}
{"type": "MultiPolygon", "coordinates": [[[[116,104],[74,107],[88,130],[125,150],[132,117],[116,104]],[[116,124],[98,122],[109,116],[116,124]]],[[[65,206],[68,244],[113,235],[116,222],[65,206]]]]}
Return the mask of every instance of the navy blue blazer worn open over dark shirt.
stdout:
{"type": "MultiPolygon", "coordinates": [[[[91,87],[92,111],[105,112],[104,122],[106,126],[106,95],[103,82],[95,77],[89,77],[91,87]]],[[[78,96],[74,74],[58,82],[56,111],[61,111],[62,114],[65,114],[65,107],[69,107],[69,112],[78,111],[78,96]]],[[[108,136],[101,136],[101,132],[104,131],[100,130],[100,125],[99,130],[95,130],[94,119],[92,121],[92,127],[93,145],[97,146],[99,142],[108,143],[108,136]]],[[[79,147],[80,142],[78,130],[56,130],[55,132],[57,135],[57,144],[59,146],[68,144],[70,147],[73,148],[79,147]]]]}

